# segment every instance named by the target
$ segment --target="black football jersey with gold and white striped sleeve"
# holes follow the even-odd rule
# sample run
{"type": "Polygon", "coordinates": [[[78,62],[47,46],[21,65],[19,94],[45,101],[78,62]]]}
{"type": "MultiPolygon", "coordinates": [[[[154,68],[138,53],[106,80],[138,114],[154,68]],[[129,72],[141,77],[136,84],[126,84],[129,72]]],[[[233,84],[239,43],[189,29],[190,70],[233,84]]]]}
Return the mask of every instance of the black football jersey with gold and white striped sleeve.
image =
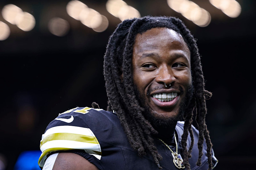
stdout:
{"type": "MultiPolygon", "coordinates": [[[[183,126],[184,122],[178,122],[175,128],[178,153],[182,153],[183,126]]],[[[192,131],[195,142],[191,153],[192,157],[189,159],[191,169],[208,169],[205,142],[202,165],[196,166],[198,130],[193,127],[192,131]]],[[[191,138],[188,136],[187,147],[190,143],[191,138]]],[[[158,153],[163,157],[160,166],[165,170],[176,170],[171,151],[157,138],[155,145],[158,153]]],[[[42,151],[38,161],[40,167],[44,166],[49,154],[73,152],[83,156],[100,170],[158,169],[151,154],[138,156],[138,153],[131,148],[117,115],[102,109],[76,107],[59,114],[56,119],[49,123],[42,135],[40,149],[42,151]]],[[[216,166],[218,162],[214,153],[212,154],[212,162],[213,166],[216,166]]]]}

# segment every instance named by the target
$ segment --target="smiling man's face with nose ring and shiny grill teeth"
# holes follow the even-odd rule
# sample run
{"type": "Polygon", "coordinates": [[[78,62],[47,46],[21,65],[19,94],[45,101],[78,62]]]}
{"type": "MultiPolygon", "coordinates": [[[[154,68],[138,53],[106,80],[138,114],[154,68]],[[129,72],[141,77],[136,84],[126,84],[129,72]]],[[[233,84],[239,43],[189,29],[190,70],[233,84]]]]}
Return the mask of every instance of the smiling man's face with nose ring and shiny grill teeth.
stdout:
{"type": "Polygon", "coordinates": [[[142,105],[154,118],[175,119],[192,85],[190,51],[182,36],[168,28],[137,34],[132,72],[142,105]]]}

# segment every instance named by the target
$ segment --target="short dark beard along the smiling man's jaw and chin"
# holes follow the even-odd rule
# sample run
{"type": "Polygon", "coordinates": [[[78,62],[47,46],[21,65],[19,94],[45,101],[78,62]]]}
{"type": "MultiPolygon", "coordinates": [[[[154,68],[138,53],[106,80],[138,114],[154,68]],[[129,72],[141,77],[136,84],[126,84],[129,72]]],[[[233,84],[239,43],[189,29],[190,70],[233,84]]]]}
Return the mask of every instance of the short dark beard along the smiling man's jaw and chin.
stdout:
{"type": "MultiPolygon", "coordinates": [[[[174,87],[175,88],[175,87],[174,87]]],[[[154,89],[155,90],[155,89],[154,89]]],[[[182,93],[184,93],[183,89],[180,88],[180,95],[182,93]]],[[[158,115],[154,110],[152,110],[149,106],[147,106],[145,104],[145,101],[143,101],[143,97],[142,95],[138,92],[137,88],[135,88],[135,92],[138,96],[140,105],[145,109],[143,113],[143,115],[145,116],[145,118],[151,123],[151,125],[153,126],[153,128],[157,129],[157,131],[159,130],[171,130],[175,128],[177,121],[182,121],[183,120],[183,115],[186,112],[186,109],[190,103],[190,100],[193,97],[193,93],[194,93],[194,86],[193,84],[188,87],[188,89],[186,90],[186,96],[181,100],[180,102],[180,107],[179,107],[179,112],[177,115],[175,116],[163,116],[163,115],[158,115]]],[[[147,91],[147,95],[149,95],[151,92],[151,90],[147,91]]],[[[147,100],[147,99],[146,99],[147,100]]]]}

